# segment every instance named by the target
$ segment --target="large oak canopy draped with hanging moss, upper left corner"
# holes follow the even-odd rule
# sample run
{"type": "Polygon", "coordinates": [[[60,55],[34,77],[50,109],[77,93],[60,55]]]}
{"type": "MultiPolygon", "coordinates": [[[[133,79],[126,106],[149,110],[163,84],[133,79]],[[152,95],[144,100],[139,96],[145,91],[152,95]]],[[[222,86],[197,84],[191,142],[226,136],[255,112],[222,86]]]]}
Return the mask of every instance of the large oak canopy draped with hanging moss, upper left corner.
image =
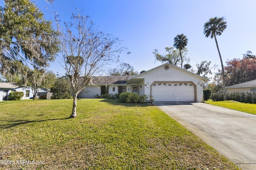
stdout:
{"type": "Polygon", "coordinates": [[[52,22],[30,0],[5,0],[0,7],[0,72],[10,79],[26,68],[48,66],[58,52],[52,22]]]}

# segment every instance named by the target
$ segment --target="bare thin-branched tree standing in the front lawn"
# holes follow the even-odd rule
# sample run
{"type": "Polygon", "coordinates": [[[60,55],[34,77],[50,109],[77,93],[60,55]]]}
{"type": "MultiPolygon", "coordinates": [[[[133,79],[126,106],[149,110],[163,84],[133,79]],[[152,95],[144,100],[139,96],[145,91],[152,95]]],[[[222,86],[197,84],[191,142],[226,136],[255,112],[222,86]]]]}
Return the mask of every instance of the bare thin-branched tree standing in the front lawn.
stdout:
{"type": "Polygon", "coordinates": [[[89,16],[72,14],[72,22],[60,26],[58,18],[58,31],[60,32],[61,55],[59,63],[68,74],[73,92],[73,108],[70,118],[76,117],[77,95],[92,76],[100,75],[112,62],[117,62],[119,53],[125,48],[120,40],[111,34],[98,31],[89,16]]]}

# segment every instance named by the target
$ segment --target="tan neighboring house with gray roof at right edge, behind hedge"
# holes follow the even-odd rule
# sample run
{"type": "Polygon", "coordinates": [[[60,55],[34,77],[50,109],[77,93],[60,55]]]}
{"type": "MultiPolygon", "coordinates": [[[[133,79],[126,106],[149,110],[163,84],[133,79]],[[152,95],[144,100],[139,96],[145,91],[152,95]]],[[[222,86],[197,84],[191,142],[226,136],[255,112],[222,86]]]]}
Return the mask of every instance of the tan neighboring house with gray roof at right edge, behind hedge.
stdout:
{"type": "Polygon", "coordinates": [[[256,92],[256,80],[226,87],[227,92],[256,92]]]}

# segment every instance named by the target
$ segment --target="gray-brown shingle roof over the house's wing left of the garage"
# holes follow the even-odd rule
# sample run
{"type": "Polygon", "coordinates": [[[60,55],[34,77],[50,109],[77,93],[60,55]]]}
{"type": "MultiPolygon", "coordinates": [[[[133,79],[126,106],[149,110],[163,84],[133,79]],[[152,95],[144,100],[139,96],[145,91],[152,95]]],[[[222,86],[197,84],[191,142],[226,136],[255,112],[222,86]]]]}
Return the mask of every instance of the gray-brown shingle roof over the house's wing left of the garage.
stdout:
{"type": "Polygon", "coordinates": [[[132,76],[96,76],[92,77],[92,84],[126,84],[126,79],[132,76]]]}

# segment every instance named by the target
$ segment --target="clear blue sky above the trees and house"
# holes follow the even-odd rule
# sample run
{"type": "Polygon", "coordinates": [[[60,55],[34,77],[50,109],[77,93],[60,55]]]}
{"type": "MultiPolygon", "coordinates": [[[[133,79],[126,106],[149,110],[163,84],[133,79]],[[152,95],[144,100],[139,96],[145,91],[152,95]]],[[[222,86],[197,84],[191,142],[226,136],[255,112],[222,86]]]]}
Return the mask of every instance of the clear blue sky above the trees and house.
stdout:
{"type": "MultiPolygon", "coordinates": [[[[44,0],[34,0],[50,19],[44,0]]],[[[224,16],[227,28],[217,36],[222,60],[242,58],[246,51],[256,55],[256,0],[55,0],[54,10],[60,20],[70,20],[75,8],[84,9],[98,29],[111,33],[128,47],[129,55],[121,53],[121,61],[138,72],[160,65],[152,54],[172,47],[174,37],[183,33],[188,38],[190,64],[212,61],[220,66],[214,39],[206,38],[203,25],[209,18],[224,16]]],[[[186,64],[186,62],[184,63],[186,64]]],[[[113,66],[114,67],[114,66],[113,66]]],[[[64,74],[58,63],[50,70],[64,74]]],[[[214,71],[216,72],[216,71],[214,71]]]]}

